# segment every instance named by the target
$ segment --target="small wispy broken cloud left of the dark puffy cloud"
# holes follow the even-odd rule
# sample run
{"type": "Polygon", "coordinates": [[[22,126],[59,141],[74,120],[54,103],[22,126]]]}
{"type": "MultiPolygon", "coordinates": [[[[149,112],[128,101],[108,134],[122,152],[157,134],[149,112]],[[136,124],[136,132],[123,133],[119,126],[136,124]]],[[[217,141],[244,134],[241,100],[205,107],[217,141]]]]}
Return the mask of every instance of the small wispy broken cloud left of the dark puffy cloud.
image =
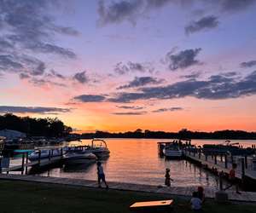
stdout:
{"type": "Polygon", "coordinates": [[[114,72],[119,75],[125,75],[130,72],[154,72],[154,67],[151,64],[142,64],[129,61],[126,65],[122,62],[117,63],[114,66],[114,72]]]}

